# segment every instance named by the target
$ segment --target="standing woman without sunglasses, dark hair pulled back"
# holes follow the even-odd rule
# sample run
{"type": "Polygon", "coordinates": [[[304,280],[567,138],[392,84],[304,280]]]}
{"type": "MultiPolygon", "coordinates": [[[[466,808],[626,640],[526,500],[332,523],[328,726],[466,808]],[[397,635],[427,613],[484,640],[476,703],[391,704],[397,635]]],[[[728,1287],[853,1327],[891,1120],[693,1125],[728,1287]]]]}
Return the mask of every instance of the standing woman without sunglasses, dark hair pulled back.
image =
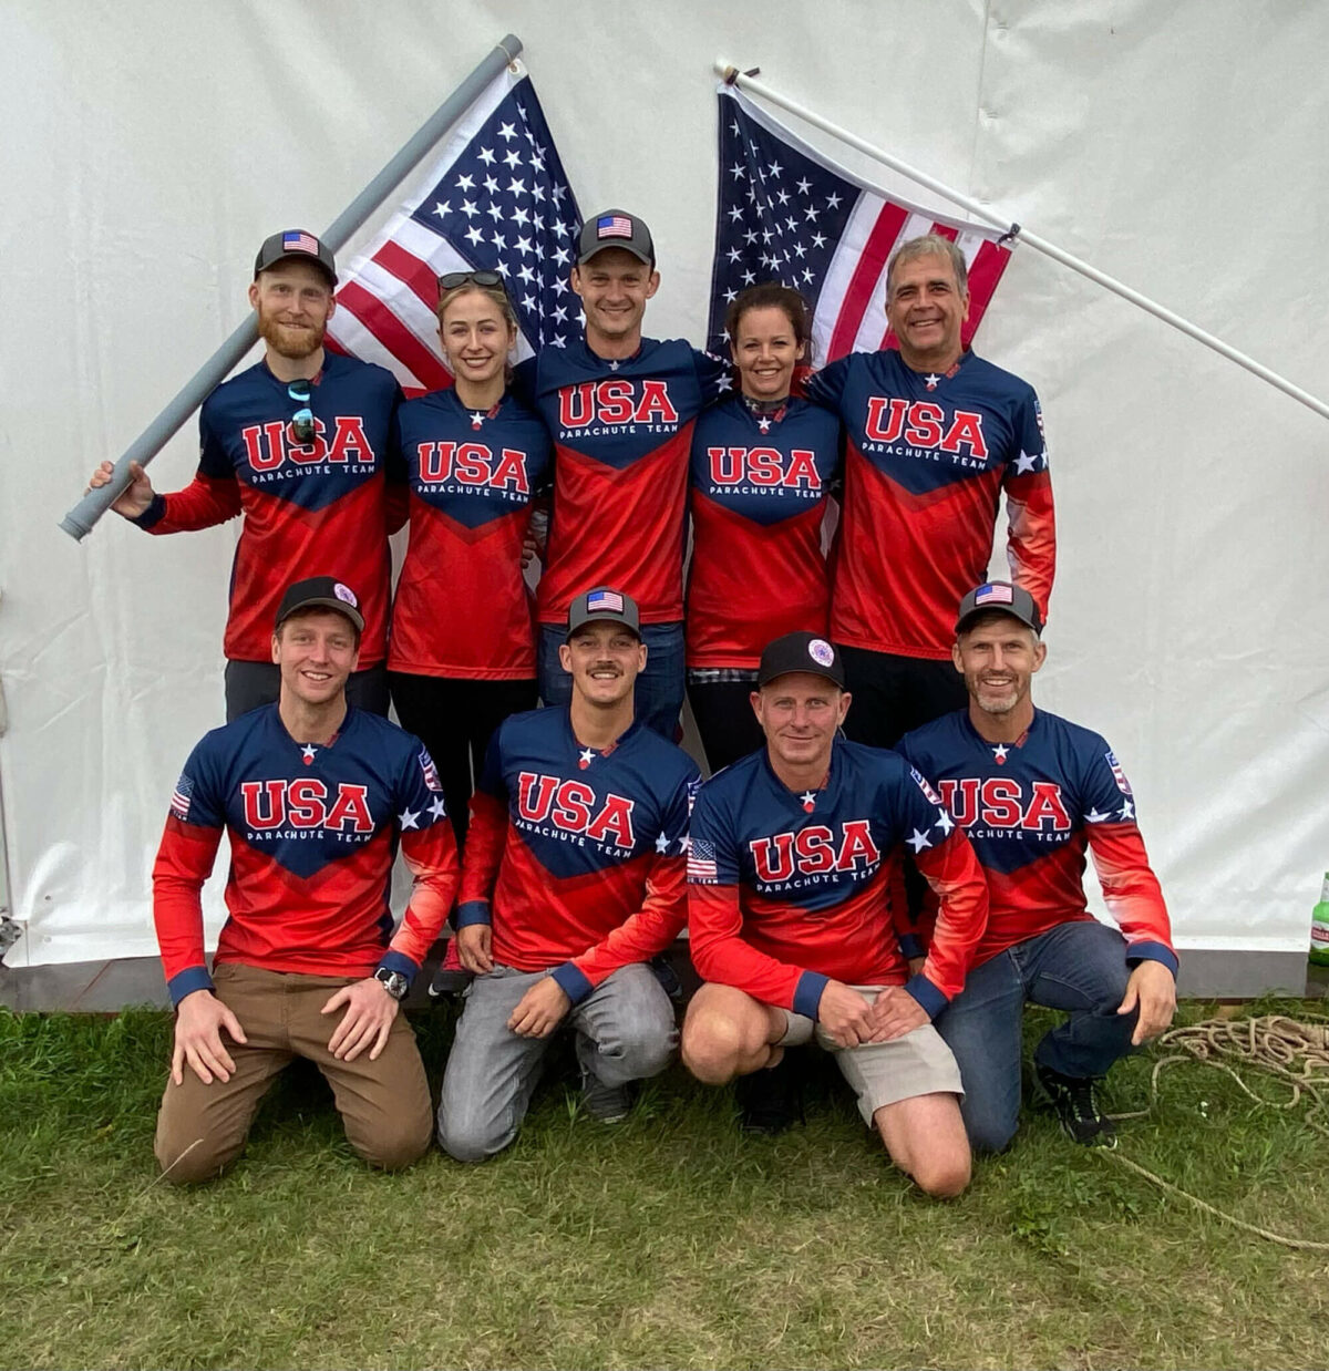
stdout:
{"type": "Polygon", "coordinates": [[[827,629],[823,524],[841,428],[790,396],[794,369],[811,361],[809,325],[797,291],[743,291],[724,321],[739,393],[705,410],[693,435],[687,698],[712,772],[763,746],[749,695],[765,644],[827,629]]]}

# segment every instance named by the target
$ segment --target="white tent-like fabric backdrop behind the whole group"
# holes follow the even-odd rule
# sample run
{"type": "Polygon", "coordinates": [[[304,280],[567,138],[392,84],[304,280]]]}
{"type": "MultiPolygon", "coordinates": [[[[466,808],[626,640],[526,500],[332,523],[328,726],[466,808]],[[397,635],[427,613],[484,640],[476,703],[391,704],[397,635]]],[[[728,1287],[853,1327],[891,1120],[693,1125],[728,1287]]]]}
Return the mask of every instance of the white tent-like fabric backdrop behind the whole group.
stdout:
{"type": "MultiPolygon", "coordinates": [[[[723,55],[1329,392],[1311,0],[11,0],[3,27],[14,967],[155,951],[166,802],[222,717],[235,529],[108,515],[75,544],[56,522],[241,319],[259,241],[331,223],[507,30],[583,210],[654,229],[651,333],[705,333],[723,55]]],[[[1111,739],[1181,946],[1304,945],[1329,865],[1329,424],[1027,247],[978,350],[1046,414],[1040,702],[1111,739]]],[[[158,487],[195,458],[191,425],[158,487]]]]}

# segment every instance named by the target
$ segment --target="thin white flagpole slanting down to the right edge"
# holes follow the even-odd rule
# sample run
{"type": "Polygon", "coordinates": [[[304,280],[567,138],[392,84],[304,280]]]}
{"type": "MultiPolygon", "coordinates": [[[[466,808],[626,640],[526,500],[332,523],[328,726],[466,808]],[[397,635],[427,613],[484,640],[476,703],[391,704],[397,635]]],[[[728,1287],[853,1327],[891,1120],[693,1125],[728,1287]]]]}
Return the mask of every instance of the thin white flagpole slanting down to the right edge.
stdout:
{"type": "Polygon", "coordinates": [[[1192,324],[1189,319],[1184,319],[1180,314],[1167,308],[1167,306],[1159,304],[1156,300],[1151,300],[1147,295],[1141,295],[1138,291],[1133,291],[1129,285],[1125,285],[1115,277],[1108,276],[1105,271],[1100,271],[1088,262],[1082,262],[1079,258],[1073,256],[1063,248],[1059,248],[1055,243],[1049,243],[1046,239],[1040,237],[1037,233],[1031,233],[1019,223],[1012,223],[1009,219],[994,213],[989,206],[979,204],[978,200],[970,199],[970,196],[963,195],[960,191],[952,191],[950,186],[944,185],[935,177],[929,175],[926,171],[919,171],[916,167],[911,167],[907,162],[901,162],[898,158],[891,156],[882,148],[874,147],[871,143],[850,133],[848,129],[842,129],[839,125],[831,123],[830,119],[823,119],[819,114],[813,114],[812,110],[806,110],[804,106],[790,100],[787,96],[780,95],[778,90],[772,90],[764,81],[757,81],[750,75],[745,75],[738,67],[726,62],[723,58],[716,58],[715,70],[724,78],[727,85],[738,86],[741,90],[750,90],[753,95],[760,95],[763,100],[768,100],[771,104],[779,106],[790,114],[795,114],[800,119],[806,121],[813,128],[830,133],[833,137],[839,138],[842,143],[848,143],[849,147],[857,148],[860,152],[865,152],[870,158],[875,158],[878,162],[883,162],[893,171],[898,171],[901,175],[909,177],[911,181],[918,181],[919,185],[926,185],[930,191],[934,191],[944,199],[950,200],[952,204],[959,204],[961,208],[967,210],[971,215],[974,215],[974,218],[982,219],[985,223],[990,223],[994,228],[1005,229],[1007,241],[1027,243],[1037,252],[1042,252],[1044,256],[1052,258],[1053,262],[1060,262],[1062,266],[1068,266],[1073,271],[1078,271],[1081,276],[1097,282],[1114,295],[1119,295],[1123,300],[1130,300],[1132,304],[1137,304],[1141,310],[1148,311],[1164,324],[1170,324],[1174,329],[1178,329],[1188,337],[1193,337],[1197,343],[1203,343],[1207,348],[1212,348],[1219,356],[1228,358],[1229,362],[1236,362],[1237,366],[1245,367],[1249,373],[1252,373],[1252,376],[1258,376],[1262,381],[1267,381],[1270,385],[1282,391],[1284,395],[1291,395],[1292,399],[1300,400],[1308,410],[1314,410],[1322,418],[1329,420],[1329,404],[1324,400],[1317,399],[1308,391],[1303,391],[1302,387],[1293,385],[1286,377],[1280,376],[1277,372],[1271,372],[1267,366],[1256,362],[1255,358],[1247,356],[1245,352],[1238,352],[1222,339],[1214,337],[1212,333],[1206,333],[1206,330],[1199,325],[1192,324]]]}

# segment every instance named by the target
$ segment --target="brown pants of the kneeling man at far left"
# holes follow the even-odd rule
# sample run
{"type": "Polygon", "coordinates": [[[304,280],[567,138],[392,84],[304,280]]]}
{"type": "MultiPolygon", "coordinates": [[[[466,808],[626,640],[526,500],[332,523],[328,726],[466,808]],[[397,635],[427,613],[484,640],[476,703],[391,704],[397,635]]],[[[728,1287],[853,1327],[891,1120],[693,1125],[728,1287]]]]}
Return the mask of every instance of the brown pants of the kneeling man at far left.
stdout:
{"type": "Polygon", "coordinates": [[[328,1039],[340,1010],[320,1010],[352,976],[303,976],[226,962],[213,980],[217,998],[244,1030],[248,1043],[226,1042],[236,1069],[230,1080],[204,1086],[185,1065],[184,1084],[166,1083],[156,1117],[156,1160],[166,1179],[207,1180],[244,1146],[259,1101],[295,1057],[307,1057],[332,1086],[351,1146],[374,1167],[395,1169],[424,1156],[433,1116],[429,1083],[416,1034],[398,1015],[377,1061],[361,1053],[337,1061],[328,1039]]]}

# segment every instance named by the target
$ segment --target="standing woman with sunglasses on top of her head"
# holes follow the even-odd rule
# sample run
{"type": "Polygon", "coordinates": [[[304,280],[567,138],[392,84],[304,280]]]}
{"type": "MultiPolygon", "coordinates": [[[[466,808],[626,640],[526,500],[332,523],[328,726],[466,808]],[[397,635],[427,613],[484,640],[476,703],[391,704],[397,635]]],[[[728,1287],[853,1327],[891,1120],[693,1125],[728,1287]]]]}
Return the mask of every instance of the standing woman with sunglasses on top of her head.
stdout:
{"type": "Polygon", "coordinates": [[[438,768],[464,842],[490,735],[535,709],[535,629],[523,577],[531,503],[551,473],[539,415],[507,392],[517,317],[495,271],[439,277],[450,389],[398,410],[396,478],[410,540],[392,605],[388,683],[402,727],[438,768]],[[405,470],[402,469],[405,468],[405,470]]]}

